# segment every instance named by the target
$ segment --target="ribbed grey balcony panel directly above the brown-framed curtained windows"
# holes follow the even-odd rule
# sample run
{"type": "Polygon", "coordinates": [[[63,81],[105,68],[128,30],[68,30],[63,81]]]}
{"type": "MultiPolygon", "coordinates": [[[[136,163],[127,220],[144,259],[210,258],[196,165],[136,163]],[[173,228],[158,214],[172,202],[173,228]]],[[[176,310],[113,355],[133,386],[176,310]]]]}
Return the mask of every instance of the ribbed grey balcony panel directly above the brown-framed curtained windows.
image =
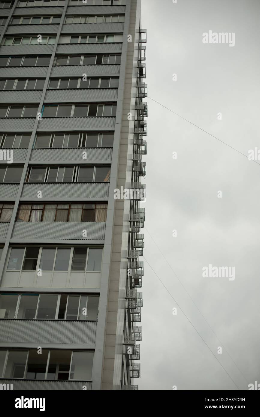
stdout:
{"type": "Polygon", "coordinates": [[[25,183],[22,198],[39,200],[38,190],[42,191],[42,199],[45,201],[48,198],[64,198],[66,201],[71,198],[82,198],[84,201],[85,198],[107,198],[109,183],[25,183]]]}

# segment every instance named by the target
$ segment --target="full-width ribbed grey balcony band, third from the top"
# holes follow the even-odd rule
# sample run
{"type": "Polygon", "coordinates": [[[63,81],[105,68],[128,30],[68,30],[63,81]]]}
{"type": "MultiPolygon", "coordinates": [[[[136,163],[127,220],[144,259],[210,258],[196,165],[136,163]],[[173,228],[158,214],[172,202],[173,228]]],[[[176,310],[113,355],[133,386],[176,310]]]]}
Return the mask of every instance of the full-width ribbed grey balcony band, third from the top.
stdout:
{"type": "MultiPolygon", "coordinates": [[[[56,53],[118,53],[122,50],[121,42],[108,43],[61,43],[57,46],[56,53]]],[[[51,54],[54,44],[39,45],[2,45],[0,55],[23,54],[51,54]]]]}

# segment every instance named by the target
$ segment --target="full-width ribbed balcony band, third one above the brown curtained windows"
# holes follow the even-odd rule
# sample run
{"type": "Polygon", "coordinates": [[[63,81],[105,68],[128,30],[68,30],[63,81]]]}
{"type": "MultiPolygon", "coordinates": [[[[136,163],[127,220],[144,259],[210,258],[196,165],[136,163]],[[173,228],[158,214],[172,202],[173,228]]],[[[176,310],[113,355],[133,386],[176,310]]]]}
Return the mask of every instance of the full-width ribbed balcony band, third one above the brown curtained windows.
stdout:
{"type": "MultiPolygon", "coordinates": [[[[0,118],[3,132],[28,132],[33,129],[36,119],[31,118],[0,118]]],[[[114,130],[115,117],[43,117],[38,121],[38,131],[84,131],[114,130]]]]}

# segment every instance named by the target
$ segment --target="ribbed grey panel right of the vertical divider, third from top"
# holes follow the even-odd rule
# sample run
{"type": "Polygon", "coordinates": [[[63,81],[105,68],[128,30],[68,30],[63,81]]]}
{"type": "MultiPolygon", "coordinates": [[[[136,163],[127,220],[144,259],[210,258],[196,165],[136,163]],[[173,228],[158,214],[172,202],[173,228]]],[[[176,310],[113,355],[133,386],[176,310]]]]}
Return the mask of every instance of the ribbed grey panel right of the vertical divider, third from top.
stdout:
{"type": "MultiPolygon", "coordinates": [[[[61,43],[58,45],[57,53],[116,53],[121,52],[122,43],[61,43]]],[[[46,45],[49,46],[49,45],[46,45]]],[[[3,48],[3,47],[2,47],[3,48]]],[[[10,48],[10,47],[5,47],[10,48]]],[[[12,47],[11,47],[12,48],[12,47]]],[[[0,51],[0,53],[2,53],[0,51]]],[[[5,52],[6,53],[6,52],[5,52]]],[[[10,53],[10,52],[7,52],[10,53]]],[[[18,53],[18,52],[16,52],[18,53]]]]}

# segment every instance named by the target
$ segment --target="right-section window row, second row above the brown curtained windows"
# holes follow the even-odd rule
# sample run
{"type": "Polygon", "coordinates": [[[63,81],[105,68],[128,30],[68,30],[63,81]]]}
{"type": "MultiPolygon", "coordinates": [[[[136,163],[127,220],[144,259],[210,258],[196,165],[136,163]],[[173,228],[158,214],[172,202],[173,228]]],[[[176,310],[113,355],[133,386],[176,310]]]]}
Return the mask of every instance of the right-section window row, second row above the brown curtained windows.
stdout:
{"type": "MultiPolygon", "coordinates": [[[[12,137],[14,135],[11,135],[12,137]]],[[[11,140],[10,140],[11,142],[11,140]]],[[[114,133],[38,133],[34,148],[113,148],[114,133]]],[[[12,146],[5,146],[12,147],[12,146]]]]}

